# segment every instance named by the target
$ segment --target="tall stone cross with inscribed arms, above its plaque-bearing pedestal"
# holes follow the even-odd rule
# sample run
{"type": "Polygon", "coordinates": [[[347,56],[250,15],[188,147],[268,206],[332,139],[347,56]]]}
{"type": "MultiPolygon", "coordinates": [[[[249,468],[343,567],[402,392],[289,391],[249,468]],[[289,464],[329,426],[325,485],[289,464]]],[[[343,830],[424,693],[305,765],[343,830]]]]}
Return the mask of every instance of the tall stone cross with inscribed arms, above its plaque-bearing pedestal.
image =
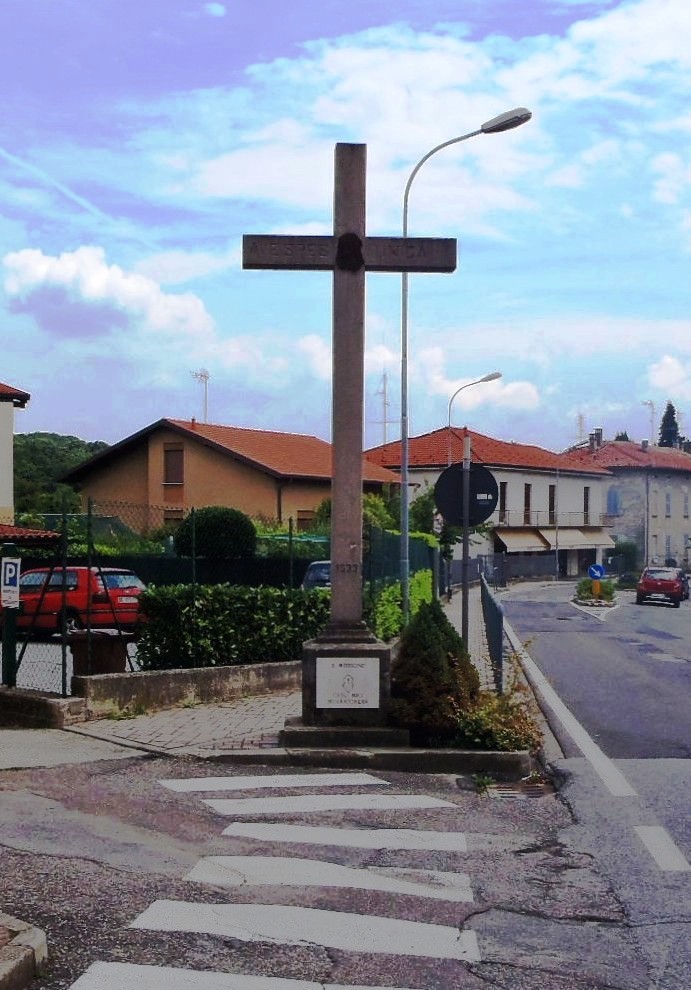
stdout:
{"type": "MultiPolygon", "coordinates": [[[[337,144],[333,236],[243,237],[243,268],[333,272],[331,617],[334,640],[367,639],[362,622],[365,273],[452,272],[453,238],[367,237],[364,144],[337,144]]],[[[371,639],[371,637],[369,637],[371,639]]]]}

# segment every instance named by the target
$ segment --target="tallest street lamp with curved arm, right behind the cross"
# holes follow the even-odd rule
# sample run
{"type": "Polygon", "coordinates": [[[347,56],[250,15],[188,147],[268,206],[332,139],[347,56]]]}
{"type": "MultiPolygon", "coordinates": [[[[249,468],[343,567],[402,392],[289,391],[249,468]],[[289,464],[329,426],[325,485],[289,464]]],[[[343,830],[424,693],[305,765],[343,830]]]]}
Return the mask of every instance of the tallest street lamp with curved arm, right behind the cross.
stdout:
{"type": "MultiPolygon", "coordinates": [[[[403,193],[403,236],[408,236],[408,196],[413,179],[418,174],[422,166],[443,148],[448,148],[451,144],[459,144],[467,141],[468,138],[478,134],[498,134],[500,131],[510,131],[514,127],[520,127],[532,117],[530,110],[525,107],[517,107],[515,110],[508,110],[500,113],[498,117],[492,117],[476,131],[462,134],[460,137],[451,138],[444,141],[428,151],[415,168],[412,170],[406,183],[403,193]]],[[[410,613],[410,560],[409,560],[409,537],[410,529],[410,503],[409,503],[409,470],[408,470],[408,273],[401,275],[401,608],[403,612],[404,625],[408,622],[410,613]]]]}

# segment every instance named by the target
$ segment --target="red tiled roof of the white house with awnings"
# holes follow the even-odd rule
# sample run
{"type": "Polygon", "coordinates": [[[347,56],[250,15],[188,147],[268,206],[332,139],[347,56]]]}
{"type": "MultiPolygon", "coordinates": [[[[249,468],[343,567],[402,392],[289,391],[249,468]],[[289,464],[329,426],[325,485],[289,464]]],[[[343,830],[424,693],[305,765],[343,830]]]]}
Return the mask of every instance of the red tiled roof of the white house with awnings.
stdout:
{"type": "MultiPolygon", "coordinates": [[[[543,471],[577,471],[578,473],[605,474],[606,469],[596,464],[582,464],[573,460],[567,454],[556,454],[544,447],[534,444],[511,443],[506,440],[495,440],[482,433],[467,431],[470,436],[471,460],[488,467],[528,468],[543,471]]],[[[463,460],[463,437],[465,428],[448,426],[425,433],[420,437],[411,437],[408,441],[408,463],[411,468],[440,468],[449,463],[463,460]]],[[[401,443],[387,443],[366,451],[371,461],[376,461],[385,467],[400,468],[401,443]]]]}

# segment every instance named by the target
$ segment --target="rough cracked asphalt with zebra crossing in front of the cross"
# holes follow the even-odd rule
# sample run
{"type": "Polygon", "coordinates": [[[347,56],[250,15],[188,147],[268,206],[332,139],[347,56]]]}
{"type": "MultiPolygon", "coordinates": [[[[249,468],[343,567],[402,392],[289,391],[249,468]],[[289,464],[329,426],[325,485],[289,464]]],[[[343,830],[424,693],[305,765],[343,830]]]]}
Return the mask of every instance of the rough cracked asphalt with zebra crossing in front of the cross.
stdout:
{"type": "Polygon", "coordinates": [[[50,947],[36,990],[170,990],[181,970],[185,990],[649,990],[556,797],[357,777],[147,758],[0,772],[3,907],[50,947]]]}

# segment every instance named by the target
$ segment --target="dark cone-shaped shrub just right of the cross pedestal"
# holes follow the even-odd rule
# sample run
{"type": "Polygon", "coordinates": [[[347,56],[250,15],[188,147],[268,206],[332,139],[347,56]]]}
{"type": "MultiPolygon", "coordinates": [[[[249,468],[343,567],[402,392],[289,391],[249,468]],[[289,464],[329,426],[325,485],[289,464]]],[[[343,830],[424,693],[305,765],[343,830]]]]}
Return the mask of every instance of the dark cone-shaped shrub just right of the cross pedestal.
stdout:
{"type": "Polygon", "coordinates": [[[437,599],[423,603],[403,630],[391,677],[390,722],[429,744],[457,730],[457,713],[479,691],[463,640],[437,599]]]}

